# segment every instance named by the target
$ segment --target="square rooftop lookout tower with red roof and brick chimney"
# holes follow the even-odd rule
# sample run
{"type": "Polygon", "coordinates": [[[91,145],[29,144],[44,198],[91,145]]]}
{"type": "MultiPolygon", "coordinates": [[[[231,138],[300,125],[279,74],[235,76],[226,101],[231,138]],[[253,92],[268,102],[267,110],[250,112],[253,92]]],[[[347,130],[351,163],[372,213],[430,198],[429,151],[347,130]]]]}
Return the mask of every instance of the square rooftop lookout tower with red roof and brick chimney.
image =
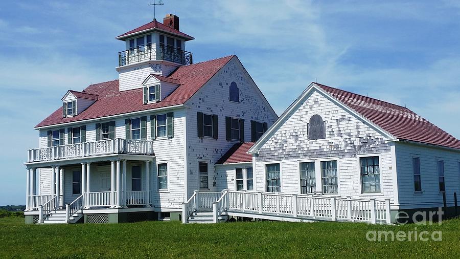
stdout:
{"type": "Polygon", "coordinates": [[[150,74],[168,76],[193,63],[185,42],[194,38],[179,31],[179,17],[174,14],[167,14],[163,23],[153,19],[116,39],[125,41],[125,50],[118,53],[120,91],[141,88],[150,74]]]}

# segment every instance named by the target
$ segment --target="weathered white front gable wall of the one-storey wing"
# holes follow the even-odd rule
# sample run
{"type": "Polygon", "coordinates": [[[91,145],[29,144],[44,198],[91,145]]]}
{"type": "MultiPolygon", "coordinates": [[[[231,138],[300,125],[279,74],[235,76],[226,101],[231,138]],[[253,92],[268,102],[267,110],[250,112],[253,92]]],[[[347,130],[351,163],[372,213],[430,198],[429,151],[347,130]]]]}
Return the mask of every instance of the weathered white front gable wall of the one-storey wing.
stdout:
{"type": "MultiPolygon", "coordinates": [[[[318,161],[316,165],[319,165],[319,161],[337,160],[339,195],[365,196],[361,194],[359,156],[380,157],[382,186],[376,197],[394,198],[392,157],[386,139],[361,119],[314,91],[260,148],[255,161],[257,190],[265,191],[265,163],[280,163],[281,190],[299,193],[300,162],[318,161]],[[326,139],[309,141],[307,127],[315,114],[325,121],[326,139]]],[[[317,173],[317,189],[319,185],[320,174],[317,173]]]]}

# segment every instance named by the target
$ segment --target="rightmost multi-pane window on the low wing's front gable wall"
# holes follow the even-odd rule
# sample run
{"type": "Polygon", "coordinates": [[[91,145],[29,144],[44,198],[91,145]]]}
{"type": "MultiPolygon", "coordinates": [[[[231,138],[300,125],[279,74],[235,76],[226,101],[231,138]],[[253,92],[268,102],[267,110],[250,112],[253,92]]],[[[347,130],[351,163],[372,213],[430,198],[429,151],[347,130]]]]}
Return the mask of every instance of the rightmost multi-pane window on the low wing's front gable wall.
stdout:
{"type": "Polygon", "coordinates": [[[362,192],[380,192],[379,157],[362,157],[360,161],[362,192]]]}

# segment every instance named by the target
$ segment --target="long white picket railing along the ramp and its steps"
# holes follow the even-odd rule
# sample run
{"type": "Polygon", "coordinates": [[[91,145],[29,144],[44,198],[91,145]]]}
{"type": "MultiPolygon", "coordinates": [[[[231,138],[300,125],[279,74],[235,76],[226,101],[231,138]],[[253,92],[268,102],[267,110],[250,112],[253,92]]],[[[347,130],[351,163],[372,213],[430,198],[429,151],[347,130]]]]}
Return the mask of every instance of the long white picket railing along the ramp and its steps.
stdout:
{"type": "Polygon", "coordinates": [[[214,222],[227,211],[248,213],[248,217],[252,218],[264,214],[280,218],[391,223],[389,199],[351,199],[254,191],[195,191],[194,196],[183,205],[183,222],[187,222],[187,217],[194,210],[209,209],[210,203],[214,222]]]}

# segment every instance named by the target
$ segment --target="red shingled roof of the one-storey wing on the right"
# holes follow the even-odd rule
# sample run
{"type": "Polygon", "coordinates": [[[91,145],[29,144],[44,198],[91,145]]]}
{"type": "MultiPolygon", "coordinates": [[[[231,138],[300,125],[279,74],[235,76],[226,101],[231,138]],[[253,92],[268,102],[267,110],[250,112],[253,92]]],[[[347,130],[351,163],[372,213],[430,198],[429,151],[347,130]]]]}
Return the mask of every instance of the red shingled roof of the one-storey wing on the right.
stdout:
{"type": "Polygon", "coordinates": [[[406,107],[316,84],[398,139],[460,149],[460,140],[406,107]]]}

